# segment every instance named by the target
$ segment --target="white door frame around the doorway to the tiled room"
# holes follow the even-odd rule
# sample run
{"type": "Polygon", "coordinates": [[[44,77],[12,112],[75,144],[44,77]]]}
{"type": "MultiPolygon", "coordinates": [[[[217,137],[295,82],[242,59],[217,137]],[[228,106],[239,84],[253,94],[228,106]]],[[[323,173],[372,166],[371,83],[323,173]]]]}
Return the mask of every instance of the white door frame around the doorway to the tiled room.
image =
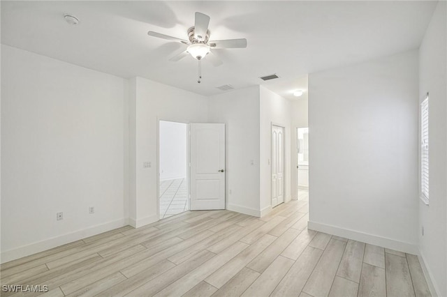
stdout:
{"type": "MultiPolygon", "coordinates": [[[[190,121],[181,120],[181,119],[172,119],[172,118],[156,118],[156,214],[160,219],[160,121],[173,122],[173,123],[184,123],[186,124],[186,183],[188,184],[188,204],[191,203],[191,190],[189,189],[189,179],[190,179],[190,162],[189,160],[189,134],[191,133],[189,130],[190,121]]],[[[188,209],[191,208],[191,205],[188,205],[188,209]]]]}

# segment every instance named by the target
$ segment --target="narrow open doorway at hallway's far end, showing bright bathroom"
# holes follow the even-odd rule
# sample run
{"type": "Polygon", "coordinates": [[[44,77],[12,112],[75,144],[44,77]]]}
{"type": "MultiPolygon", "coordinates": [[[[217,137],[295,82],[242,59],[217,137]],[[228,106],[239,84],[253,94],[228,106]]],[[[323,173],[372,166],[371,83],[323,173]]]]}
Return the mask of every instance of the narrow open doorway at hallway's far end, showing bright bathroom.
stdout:
{"type": "Polygon", "coordinates": [[[298,200],[309,199],[309,128],[297,128],[298,200]]]}

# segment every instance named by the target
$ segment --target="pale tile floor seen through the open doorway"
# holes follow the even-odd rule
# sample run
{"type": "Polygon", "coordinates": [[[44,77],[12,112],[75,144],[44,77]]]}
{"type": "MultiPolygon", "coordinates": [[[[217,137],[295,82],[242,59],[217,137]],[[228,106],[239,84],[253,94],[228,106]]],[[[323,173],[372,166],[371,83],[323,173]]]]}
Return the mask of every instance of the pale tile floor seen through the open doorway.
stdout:
{"type": "Polygon", "coordinates": [[[160,181],[160,219],[189,211],[186,178],[160,181]]]}

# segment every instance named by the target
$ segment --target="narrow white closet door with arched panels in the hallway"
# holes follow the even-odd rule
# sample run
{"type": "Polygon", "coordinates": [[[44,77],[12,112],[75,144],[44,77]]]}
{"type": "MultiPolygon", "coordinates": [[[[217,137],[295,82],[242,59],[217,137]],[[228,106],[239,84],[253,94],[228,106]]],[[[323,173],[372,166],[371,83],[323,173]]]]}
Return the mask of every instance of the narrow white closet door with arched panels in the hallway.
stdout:
{"type": "Polygon", "coordinates": [[[284,202],[284,127],[272,125],[272,207],[284,202]]]}

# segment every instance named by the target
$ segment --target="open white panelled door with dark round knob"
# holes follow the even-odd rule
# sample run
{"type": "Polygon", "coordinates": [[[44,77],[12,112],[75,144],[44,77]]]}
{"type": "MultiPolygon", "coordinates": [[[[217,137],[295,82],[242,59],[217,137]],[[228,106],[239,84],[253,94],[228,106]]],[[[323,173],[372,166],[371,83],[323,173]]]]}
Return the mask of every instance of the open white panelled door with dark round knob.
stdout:
{"type": "Polygon", "coordinates": [[[225,124],[191,123],[191,211],[225,209],[225,124]]]}

